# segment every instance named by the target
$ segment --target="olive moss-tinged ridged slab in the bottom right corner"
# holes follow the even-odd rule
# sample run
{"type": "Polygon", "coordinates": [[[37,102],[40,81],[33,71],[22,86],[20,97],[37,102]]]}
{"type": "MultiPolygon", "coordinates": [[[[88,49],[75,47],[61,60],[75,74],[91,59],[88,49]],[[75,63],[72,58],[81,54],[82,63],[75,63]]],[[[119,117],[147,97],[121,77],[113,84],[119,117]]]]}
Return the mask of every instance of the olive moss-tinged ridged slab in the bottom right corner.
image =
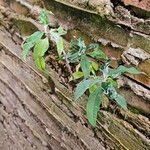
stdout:
{"type": "Polygon", "coordinates": [[[127,122],[116,118],[115,116],[104,112],[103,124],[107,127],[108,131],[116,138],[126,149],[129,150],[145,150],[149,145],[144,141],[136,129],[134,129],[127,122]]]}

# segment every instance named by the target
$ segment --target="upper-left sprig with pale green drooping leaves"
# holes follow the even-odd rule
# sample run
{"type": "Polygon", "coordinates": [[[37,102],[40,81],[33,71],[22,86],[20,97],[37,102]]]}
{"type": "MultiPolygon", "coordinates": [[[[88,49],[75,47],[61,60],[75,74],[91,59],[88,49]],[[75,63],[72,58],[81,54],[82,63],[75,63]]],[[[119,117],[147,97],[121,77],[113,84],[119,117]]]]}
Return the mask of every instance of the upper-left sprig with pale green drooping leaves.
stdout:
{"type": "Polygon", "coordinates": [[[66,34],[66,31],[61,26],[56,29],[48,29],[49,20],[46,10],[41,11],[38,19],[44,26],[44,32],[37,31],[26,38],[22,44],[22,57],[25,60],[29,51],[33,48],[33,60],[36,67],[41,71],[45,71],[44,56],[50,46],[49,40],[56,44],[58,56],[61,57],[61,54],[64,52],[62,35],[66,34]]]}

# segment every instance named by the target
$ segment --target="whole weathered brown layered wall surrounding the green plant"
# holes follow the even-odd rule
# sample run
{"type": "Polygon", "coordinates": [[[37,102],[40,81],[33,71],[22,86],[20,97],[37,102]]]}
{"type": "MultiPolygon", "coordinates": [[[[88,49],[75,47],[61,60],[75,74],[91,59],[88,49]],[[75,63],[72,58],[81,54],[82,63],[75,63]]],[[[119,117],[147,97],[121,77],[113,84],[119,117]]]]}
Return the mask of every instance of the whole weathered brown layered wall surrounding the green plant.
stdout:
{"type": "Polygon", "coordinates": [[[124,0],[124,4],[113,0],[0,1],[0,149],[150,149],[149,9],[136,0],[124,0]],[[82,36],[87,43],[99,42],[114,58],[112,67],[122,61],[143,71],[118,79],[130,111],[100,110],[93,130],[84,115],[85,99],[73,102],[71,91],[52,69],[56,93],[48,92],[50,85],[32,58],[21,60],[24,37],[43,30],[36,21],[40,6],[55,14],[49,16],[52,26],[68,30],[66,41],[82,36]],[[138,7],[146,16],[139,17],[138,7]]]}

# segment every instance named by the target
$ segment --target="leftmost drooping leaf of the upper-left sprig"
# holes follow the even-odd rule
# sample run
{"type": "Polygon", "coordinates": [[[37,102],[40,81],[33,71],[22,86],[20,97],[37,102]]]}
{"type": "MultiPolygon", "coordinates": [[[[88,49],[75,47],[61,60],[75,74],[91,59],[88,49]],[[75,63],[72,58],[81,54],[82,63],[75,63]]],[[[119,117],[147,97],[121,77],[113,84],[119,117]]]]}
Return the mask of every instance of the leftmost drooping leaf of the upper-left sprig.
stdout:
{"type": "Polygon", "coordinates": [[[26,58],[27,58],[27,56],[28,56],[28,54],[29,54],[29,51],[30,51],[30,49],[32,48],[34,46],[34,44],[33,43],[31,43],[31,42],[28,42],[28,43],[25,43],[25,44],[23,44],[22,45],[22,49],[23,49],[23,51],[22,51],[22,58],[24,59],[24,60],[26,60],[26,58]]]}

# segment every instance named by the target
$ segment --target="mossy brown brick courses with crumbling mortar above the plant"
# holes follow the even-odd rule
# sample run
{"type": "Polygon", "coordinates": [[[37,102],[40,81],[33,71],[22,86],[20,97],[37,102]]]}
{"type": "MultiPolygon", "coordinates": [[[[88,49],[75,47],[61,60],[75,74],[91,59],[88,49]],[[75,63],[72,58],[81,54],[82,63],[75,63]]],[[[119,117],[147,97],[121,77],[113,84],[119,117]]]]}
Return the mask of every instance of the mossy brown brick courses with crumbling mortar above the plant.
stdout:
{"type": "MultiPolygon", "coordinates": [[[[38,8],[29,6],[25,1],[18,0],[22,5],[28,7],[31,14],[35,16],[38,8]],[[31,9],[32,8],[32,9],[31,9]]],[[[33,4],[37,1],[29,0],[33,4]]],[[[55,18],[51,18],[51,23],[61,24],[68,30],[67,40],[73,36],[85,37],[87,42],[99,42],[104,47],[105,52],[114,57],[116,61],[112,62],[112,66],[116,66],[118,62],[123,61],[125,64],[137,66],[144,73],[141,75],[128,76],[128,81],[123,80],[124,84],[140,98],[136,96],[128,101],[133,107],[138,108],[142,112],[149,115],[150,110],[150,23],[149,10],[143,16],[138,17],[135,5],[132,7],[124,5],[123,2],[105,1],[69,1],[69,0],[44,0],[38,3],[55,14],[55,18]],[[135,10],[134,10],[135,9],[135,10]],[[134,11],[134,13],[133,13],[134,11]],[[137,84],[132,84],[134,81],[137,84]],[[143,94],[142,94],[143,93],[143,94]],[[144,98],[144,99],[143,99],[144,98]]],[[[16,3],[11,3],[12,8],[15,8],[16,3]]],[[[20,10],[16,10],[20,13],[20,10]]],[[[21,12],[26,14],[26,12],[21,12]]],[[[122,89],[126,90],[126,89],[122,89]]],[[[125,94],[128,98],[128,94],[125,94]]]]}

